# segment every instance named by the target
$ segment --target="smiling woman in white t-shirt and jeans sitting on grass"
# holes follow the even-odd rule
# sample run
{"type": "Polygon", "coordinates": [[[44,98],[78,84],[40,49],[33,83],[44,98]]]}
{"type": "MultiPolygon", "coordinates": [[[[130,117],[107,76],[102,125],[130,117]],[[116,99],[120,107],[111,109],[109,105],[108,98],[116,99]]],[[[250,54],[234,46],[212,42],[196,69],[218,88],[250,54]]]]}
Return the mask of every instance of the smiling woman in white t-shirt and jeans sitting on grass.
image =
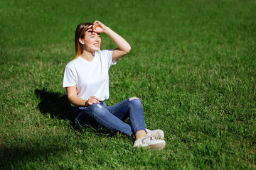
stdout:
{"type": "Polygon", "coordinates": [[[134,133],[134,147],[163,149],[162,130],[146,130],[139,98],[132,97],[113,106],[105,100],[109,94],[108,70],[131,50],[129,43],[100,21],[81,23],[75,30],[75,58],[65,67],[63,87],[73,106],[74,125],[105,127],[129,136],[134,133]],[[114,50],[100,50],[100,33],[106,33],[117,45],[114,50]],[[129,117],[129,124],[124,120],[129,117]]]}

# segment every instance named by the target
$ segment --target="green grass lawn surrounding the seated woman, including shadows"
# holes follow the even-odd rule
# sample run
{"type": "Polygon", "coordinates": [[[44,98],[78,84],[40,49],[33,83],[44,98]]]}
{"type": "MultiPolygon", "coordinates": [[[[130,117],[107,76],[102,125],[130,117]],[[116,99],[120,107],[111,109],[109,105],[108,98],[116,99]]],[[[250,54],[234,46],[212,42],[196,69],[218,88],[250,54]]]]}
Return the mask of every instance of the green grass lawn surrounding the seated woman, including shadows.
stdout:
{"type": "MultiPolygon", "coordinates": [[[[0,169],[256,169],[256,1],[0,2],[0,169]],[[162,151],[75,131],[62,88],[75,27],[102,21],[132,46],[109,105],[142,100],[162,151]]],[[[102,49],[114,48],[102,35],[102,49]]]]}

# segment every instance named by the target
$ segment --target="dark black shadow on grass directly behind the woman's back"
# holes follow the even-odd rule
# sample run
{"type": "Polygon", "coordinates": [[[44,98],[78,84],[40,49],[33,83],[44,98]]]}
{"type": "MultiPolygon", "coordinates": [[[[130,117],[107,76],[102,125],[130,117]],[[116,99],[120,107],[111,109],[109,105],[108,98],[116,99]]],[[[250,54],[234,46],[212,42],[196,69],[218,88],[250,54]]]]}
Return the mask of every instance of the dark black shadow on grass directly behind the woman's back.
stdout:
{"type": "Polygon", "coordinates": [[[35,94],[41,100],[38,104],[41,113],[44,115],[50,113],[51,118],[70,120],[70,123],[72,123],[72,108],[66,95],[47,91],[46,89],[36,89],[35,94]]]}

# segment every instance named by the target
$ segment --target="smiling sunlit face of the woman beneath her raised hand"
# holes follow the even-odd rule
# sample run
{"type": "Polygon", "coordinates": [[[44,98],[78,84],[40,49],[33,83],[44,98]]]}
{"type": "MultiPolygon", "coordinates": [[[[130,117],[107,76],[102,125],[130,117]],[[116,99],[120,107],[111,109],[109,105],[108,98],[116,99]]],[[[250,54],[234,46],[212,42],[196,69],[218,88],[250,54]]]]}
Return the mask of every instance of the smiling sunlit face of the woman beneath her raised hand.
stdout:
{"type": "Polygon", "coordinates": [[[85,50],[95,52],[100,50],[101,38],[99,33],[93,32],[91,29],[85,32],[85,37],[82,39],[85,50]]]}

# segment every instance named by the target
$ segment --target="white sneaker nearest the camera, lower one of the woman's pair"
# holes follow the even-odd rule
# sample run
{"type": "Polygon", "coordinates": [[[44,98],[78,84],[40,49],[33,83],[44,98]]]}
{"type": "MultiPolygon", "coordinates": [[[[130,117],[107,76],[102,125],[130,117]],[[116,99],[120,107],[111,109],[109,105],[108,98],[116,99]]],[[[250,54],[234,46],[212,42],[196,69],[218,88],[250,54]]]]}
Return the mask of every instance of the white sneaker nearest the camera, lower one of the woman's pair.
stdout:
{"type": "Polygon", "coordinates": [[[149,147],[151,149],[164,149],[166,142],[164,140],[156,140],[154,137],[146,135],[134,142],[133,147],[149,147]]]}

